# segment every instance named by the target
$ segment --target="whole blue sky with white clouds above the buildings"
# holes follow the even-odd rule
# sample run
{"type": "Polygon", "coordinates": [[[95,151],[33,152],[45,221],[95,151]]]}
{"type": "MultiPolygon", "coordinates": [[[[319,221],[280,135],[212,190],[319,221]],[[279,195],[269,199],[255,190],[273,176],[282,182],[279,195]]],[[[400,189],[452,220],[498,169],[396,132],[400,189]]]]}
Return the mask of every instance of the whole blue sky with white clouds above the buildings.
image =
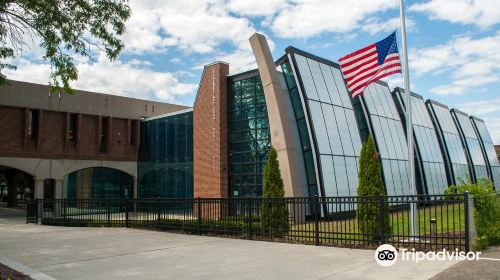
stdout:
{"type": "MultiPolygon", "coordinates": [[[[405,1],[412,91],[486,121],[500,144],[500,1],[405,1]]],[[[275,59],[294,46],[338,58],[399,28],[399,0],[131,0],[125,49],[109,62],[76,58],[76,89],[192,106],[205,64],[255,69],[248,42],[268,38],[275,59]]],[[[400,40],[400,33],[398,31],[400,40]]],[[[401,43],[400,49],[401,49],[401,43]]],[[[34,44],[7,77],[48,83],[34,44]]],[[[401,75],[385,79],[401,86],[401,75]]]]}

